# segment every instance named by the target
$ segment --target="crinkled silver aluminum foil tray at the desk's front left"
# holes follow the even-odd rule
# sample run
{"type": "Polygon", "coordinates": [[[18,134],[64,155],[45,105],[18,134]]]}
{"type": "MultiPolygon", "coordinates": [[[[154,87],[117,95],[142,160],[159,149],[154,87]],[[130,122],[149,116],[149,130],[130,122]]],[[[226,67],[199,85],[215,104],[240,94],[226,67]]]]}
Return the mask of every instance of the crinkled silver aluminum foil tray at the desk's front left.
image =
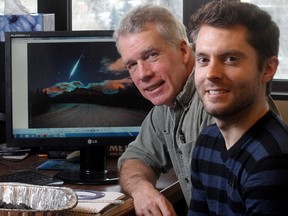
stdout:
{"type": "Polygon", "coordinates": [[[0,200],[32,209],[0,208],[0,216],[59,216],[78,203],[76,193],[67,187],[0,183],[0,200]]]}

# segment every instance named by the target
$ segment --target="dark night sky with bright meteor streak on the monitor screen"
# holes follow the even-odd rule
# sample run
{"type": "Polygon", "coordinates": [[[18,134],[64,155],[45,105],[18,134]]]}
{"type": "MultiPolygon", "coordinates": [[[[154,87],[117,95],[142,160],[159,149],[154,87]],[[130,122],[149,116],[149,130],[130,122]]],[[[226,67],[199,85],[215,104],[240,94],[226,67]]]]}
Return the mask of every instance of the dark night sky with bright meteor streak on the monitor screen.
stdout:
{"type": "Polygon", "coordinates": [[[29,86],[41,89],[60,82],[80,81],[87,85],[122,79],[128,72],[116,64],[119,58],[114,42],[29,44],[29,86]]]}

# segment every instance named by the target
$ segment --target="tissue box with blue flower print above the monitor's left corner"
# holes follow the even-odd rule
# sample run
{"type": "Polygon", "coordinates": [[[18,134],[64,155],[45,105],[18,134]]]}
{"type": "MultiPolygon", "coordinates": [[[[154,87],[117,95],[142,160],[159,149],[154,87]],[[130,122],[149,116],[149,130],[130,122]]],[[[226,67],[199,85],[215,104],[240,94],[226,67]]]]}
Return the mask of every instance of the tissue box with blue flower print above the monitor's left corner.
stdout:
{"type": "Polygon", "coordinates": [[[5,32],[55,31],[54,14],[0,15],[0,41],[5,32]]]}

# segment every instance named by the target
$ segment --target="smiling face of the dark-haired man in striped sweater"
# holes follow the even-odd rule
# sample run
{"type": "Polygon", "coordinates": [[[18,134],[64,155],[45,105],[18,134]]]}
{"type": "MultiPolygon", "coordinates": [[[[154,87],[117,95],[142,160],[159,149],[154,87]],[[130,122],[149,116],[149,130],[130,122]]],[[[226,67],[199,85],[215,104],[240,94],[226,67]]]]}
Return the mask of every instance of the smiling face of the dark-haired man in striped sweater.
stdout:
{"type": "Polygon", "coordinates": [[[265,73],[241,25],[204,25],[195,47],[195,83],[206,111],[227,118],[265,98],[265,73]]]}

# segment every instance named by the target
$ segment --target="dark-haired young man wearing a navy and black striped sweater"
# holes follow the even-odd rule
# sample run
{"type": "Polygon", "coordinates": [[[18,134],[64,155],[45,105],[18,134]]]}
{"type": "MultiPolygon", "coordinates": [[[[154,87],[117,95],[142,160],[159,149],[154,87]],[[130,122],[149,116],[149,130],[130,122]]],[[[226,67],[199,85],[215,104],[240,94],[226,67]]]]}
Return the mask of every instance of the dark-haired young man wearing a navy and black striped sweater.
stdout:
{"type": "Polygon", "coordinates": [[[190,24],[196,89],[216,124],[193,151],[189,215],[287,215],[288,127],[267,103],[277,25],[256,5],[225,1],[190,24]]]}

